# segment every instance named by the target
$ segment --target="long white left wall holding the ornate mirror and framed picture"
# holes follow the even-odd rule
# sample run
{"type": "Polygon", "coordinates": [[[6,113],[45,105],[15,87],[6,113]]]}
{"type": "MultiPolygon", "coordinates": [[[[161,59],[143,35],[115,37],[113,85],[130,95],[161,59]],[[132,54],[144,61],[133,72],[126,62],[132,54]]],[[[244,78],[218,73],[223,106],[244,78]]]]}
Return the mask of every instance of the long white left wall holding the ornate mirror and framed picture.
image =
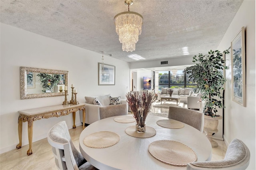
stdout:
{"type": "MultiPolygon", "coordinates": [[[[19,143],[19,110],[60,105],[64,101],[64,96],[21,100],[20,66],[69,71],[69,86],[71,83],[75,84],[80,103],[85,102],[84,96],[109,93],[125,99],[125,94],[130,90],[130,68],[124,61],[104,56],[106,64],[116,66],[116,85],[98,86],[98,62],[101,62],[101,54],[2,23],[0,31],[0,153],[15,149],[19,143]]],[[[69,95],[68,100],[70,99],[69,95]]],[[[76,126],[81,125],[78,113],[76,126]]],[[[35,121],[33,142],[46,138],[50,127],[62,120],[72,128],[72,114],[35,121]]],[[[23,123],[22,146],[26,144],[28,130],[27,123],[23,123]]]]}

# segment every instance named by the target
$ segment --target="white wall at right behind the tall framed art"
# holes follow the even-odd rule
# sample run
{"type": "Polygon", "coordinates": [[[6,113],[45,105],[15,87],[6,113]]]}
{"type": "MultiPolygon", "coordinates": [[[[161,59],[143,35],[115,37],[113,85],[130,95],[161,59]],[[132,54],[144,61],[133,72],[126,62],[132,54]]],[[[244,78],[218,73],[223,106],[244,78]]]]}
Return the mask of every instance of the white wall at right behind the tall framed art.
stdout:
{"type": "Polygon", "coordinates": [[[255,0],[244,0],[218,49],[230,47],[230,42],[245,27],[246,34],[246,107],[232,101],[231,55],[227,55],[224,140],[227,144],[234,138],[242,140],[249,148],[249,170],[255,170],[255,0]]]}

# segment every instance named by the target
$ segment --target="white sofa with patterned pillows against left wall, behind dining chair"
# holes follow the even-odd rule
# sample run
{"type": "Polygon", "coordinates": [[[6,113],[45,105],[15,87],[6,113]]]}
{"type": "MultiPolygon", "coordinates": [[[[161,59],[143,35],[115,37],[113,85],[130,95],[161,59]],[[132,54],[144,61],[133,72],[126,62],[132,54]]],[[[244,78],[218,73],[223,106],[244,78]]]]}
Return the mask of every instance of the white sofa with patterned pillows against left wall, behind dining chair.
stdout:
{"type": "MultiPolygon", "coordinates": [[[[110,105],[110,94],[109,95],[101,95],[101,96],[85,96],[85,123],[90,125],[98,120],[100,120],[100,107],[113,107],[114,105],[110,105]],[[98,103],[101,103],[101,105],[98,105],[98,103]]],[[[128,103],[126,102],[126,99],[119,99],[120,100],[120,108],[122,104],[126,104],[126,113],[128,114],[128,103]]],[[[82,111],[80,111],[80,120],[83,121],[83,114],[82,111]]]]}

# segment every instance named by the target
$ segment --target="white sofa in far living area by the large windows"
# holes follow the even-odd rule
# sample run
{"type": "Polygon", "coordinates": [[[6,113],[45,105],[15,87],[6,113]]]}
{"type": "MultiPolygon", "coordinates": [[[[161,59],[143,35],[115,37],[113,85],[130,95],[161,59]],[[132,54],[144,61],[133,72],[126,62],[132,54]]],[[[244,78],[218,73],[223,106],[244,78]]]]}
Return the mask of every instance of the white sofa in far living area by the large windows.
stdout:
{"type": "MultiPolygon", "coordinates": [[[[161,97],[166,97],[166,96],[170,96],[168,89],[169,88],[161,88],[162,91],[158,92],[158,96],[157,99],[158,101],[161,100],[161,97]]],[[[180,102],[183,103],[188,103],[188,96],[194,96],[194,91],[193,89],[190,88],[178,88],[178,89],[173,89],[173,93],[172,93],[173,97],[180,97],[180,102]]]]}

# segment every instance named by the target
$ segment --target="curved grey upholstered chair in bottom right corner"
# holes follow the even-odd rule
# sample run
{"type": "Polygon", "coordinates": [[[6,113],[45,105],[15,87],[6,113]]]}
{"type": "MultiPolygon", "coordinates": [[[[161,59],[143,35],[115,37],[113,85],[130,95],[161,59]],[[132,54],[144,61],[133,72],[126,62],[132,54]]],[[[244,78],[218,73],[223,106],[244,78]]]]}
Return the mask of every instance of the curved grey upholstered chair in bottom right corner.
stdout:
{"type": "Polygon", "coordinates": [[[192,162],[187,170],[245,170],[250,163],[250,150],[239,139],[228,145],[224,160],[192,162]]]}

